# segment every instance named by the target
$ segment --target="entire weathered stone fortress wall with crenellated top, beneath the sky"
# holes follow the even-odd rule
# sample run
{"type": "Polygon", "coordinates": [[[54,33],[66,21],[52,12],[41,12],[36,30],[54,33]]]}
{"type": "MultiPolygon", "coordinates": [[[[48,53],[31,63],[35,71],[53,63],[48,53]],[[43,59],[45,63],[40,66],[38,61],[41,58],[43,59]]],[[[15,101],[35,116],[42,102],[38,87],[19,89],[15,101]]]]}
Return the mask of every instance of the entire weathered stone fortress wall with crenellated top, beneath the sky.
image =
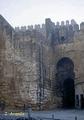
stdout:
{"type": "Polygon", "coordinates": [[[66,21],[66,24],[63,21],[61,24],[57,22],[55,25],[48,18],[42,27],[31,25],[13,29],[0,16],[0,36],[0,63],[3,73],[0,76],[0,103],[4,101],[7,109],[8,106],[11,109],[24,109],[24,104],[26,108],[31,105],[33,109],[62,107],[58,82],[73,79],[75,107],[81,108],[81,99],[84,97],[83,22],[80,27],[74,20],[71,23],[66,21]],[[73,69],[65,65],[70,74],[65,68],[61,68],[62,73],[59,72],[57,65],[63,58],[74,64],[73,69]]]}

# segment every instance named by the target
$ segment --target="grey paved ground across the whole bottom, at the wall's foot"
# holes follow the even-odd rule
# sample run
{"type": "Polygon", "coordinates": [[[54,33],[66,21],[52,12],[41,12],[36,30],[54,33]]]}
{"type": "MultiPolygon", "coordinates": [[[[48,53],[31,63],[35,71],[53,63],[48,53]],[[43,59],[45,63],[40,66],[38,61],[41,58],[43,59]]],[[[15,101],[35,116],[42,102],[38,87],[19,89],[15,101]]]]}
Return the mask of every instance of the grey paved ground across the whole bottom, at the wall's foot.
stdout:
{"type": "MultiPolygon", "coordinates": [[[[36,120],[84,120],[84,110],[53,110],[53,111],[36,111],[31,112],[31,117],[36,118],[36,120]]],[[[0,120],[30,120],[28,118],[28,113],[24,113],[21,116],[11,116],[9,115],[0,115],[0,120]],[[23,118],[21,118],[23,116],[23,118]],[[9,119],[10,118],[10,119],[9,119]]],[[[35,119],[31,119],[35,120],[35,119]]]]}

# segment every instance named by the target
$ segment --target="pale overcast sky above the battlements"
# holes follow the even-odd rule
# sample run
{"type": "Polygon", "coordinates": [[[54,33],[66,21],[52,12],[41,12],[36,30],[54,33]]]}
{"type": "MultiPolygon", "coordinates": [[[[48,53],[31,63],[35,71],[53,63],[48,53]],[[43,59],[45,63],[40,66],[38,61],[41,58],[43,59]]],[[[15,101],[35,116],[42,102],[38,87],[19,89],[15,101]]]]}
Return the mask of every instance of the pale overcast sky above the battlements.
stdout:
{"type": "Polygon", "coordinates": [[[45,18],[80,23],[84,21],[84,0],[0,0],[0,14],[13,27],[41,24],[45,18]]]}

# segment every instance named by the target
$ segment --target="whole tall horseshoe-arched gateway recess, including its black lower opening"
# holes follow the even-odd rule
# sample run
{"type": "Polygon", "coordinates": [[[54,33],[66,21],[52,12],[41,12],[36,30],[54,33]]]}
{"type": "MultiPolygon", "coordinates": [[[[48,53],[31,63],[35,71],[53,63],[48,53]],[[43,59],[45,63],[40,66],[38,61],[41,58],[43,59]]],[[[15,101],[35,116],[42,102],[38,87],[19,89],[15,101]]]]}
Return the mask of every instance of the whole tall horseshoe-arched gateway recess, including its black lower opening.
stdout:
{"type": "Polygon", "coordinates": [[[74,88],[74,64],[70,58],[64,57],[57,63],[56,79],[58,82],[59,94],[62,97],[63,108],[74,108],[75,88],[74,88]]]}

